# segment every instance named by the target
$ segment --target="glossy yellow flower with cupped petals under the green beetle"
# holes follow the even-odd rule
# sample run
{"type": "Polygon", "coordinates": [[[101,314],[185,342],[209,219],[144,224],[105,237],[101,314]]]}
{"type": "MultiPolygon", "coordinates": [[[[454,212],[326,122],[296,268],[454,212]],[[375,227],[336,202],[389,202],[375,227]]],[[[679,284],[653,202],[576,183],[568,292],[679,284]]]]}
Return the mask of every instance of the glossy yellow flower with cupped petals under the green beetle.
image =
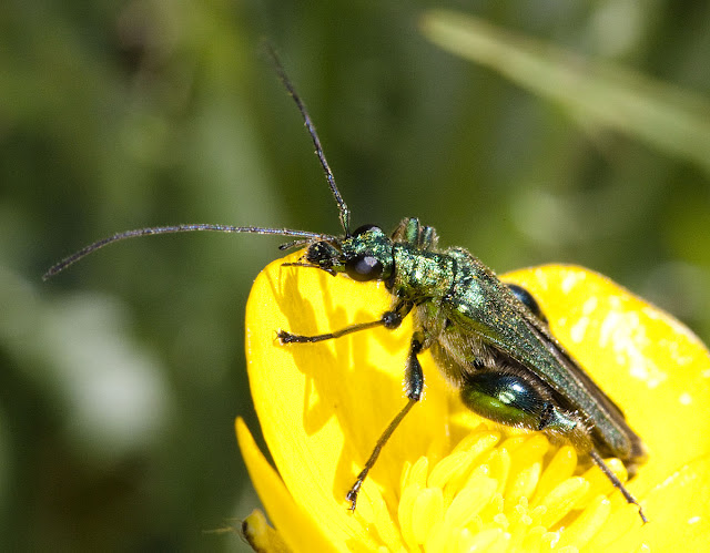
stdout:
{"type": "MultiPolygon", "coordinates": [[[[275,529],[255,512],[260,551],[700,551],[710,535],[710,356],[669,315],[579,267],[504,275],[529,289],[559,340],[622,408],[649,450],[627,485],[643,525],[608,479],[570,447],[467,411],[422,356],[425,398],[363,485],[345,494],[402,409],[412,321],[320,344],[282,346],[377,319],[384,285],[272,263],[252,289],[246,348],[252,396],[276,465],[241,419],[240,447],[275,529]],[[477,547],[477,549],[476,549],[477,547]]],[[[620,462],[609,465],[621,478],[620,462]]]]}

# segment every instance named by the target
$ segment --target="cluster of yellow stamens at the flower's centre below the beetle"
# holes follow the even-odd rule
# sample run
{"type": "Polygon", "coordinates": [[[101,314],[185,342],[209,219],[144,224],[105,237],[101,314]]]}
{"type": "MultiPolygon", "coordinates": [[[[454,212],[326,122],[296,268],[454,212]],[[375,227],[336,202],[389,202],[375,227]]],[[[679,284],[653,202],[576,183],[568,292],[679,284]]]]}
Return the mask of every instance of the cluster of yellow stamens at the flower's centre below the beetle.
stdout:
{"type": "MultiPolygon", "coordinates": [[[[609,467],[626,480],[619,461],[609,467]]],[[[613,492],[596,467],[578,468],[574,448],[537,432],[501,440],[484,423],[442,459],[404,467],[392,522],[410,551],[571,552],[640,525],[638,510],[613,492]]],[[[387,543],[390,529],[367,522],[387,543]]]]}

